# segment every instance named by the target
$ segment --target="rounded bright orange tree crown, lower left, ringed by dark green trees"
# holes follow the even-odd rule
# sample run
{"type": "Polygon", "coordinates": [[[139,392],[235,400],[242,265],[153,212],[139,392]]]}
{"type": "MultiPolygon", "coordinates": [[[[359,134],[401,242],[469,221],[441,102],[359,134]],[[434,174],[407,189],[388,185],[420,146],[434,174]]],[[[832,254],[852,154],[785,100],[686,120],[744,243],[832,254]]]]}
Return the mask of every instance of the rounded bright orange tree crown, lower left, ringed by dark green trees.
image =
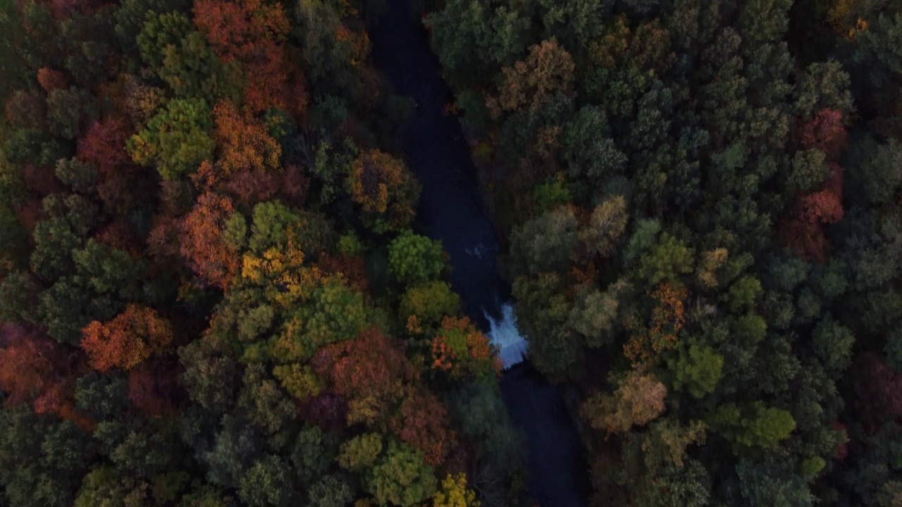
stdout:
{"type": "Polygon", "coordinates": [[[82,334],[87,362],[101,373],[113,368],[131,370],[172,341],[167,320],[154,309],[134,304],[109,322],[91,322],[82,334]]]}

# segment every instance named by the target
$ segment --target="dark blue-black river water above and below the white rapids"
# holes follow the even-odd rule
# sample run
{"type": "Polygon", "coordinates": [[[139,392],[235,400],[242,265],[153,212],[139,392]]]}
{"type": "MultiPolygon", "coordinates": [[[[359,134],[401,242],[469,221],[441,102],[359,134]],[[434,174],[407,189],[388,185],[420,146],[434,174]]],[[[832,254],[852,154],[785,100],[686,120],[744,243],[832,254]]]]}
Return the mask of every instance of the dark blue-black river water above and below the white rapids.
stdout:
{"type": "MultiPolygon", "coordinates": [[[[411,15],[405,0],[387,4],[387,13],[370,31],[373,59],[395,91],[417,104],[401,135],[407,162],[423,186],[419,228],[444,245],[453,268],[452,286],[467,314],[487,331],[484,314],[500,318],[502,304],[510,300],[510,287],[497,269],[499,243],[479,198],[460,124],[442,115],[453,96],[419,16],[411,15]]],[[[532,496],[541,507],[584,506],[584,451],[560,389],[529,364],[505,372],[501,385],[511,418],[527,435],[532,496]]]]}

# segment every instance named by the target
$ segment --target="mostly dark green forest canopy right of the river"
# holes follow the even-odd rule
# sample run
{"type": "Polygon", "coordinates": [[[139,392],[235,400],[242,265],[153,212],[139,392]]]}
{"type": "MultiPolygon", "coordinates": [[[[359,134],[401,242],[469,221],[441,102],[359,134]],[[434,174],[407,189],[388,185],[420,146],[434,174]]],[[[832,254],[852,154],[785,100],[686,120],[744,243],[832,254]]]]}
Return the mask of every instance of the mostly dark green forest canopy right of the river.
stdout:
{"type": "Polygon", "coordinates": [[[427,5],[594,504],[896,505],[900,4],[427,5]]]}

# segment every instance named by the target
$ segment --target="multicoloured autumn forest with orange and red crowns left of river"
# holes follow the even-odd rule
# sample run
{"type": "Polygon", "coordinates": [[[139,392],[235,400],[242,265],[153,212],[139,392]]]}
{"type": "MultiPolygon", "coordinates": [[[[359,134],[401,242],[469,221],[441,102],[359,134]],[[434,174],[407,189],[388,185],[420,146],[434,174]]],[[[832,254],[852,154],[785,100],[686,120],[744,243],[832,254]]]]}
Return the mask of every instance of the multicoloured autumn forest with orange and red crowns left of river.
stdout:
{"type": "Polygon", "coordinates": [[[0,505],[519,497],[373,14],[2,4],[0,505]]]}

